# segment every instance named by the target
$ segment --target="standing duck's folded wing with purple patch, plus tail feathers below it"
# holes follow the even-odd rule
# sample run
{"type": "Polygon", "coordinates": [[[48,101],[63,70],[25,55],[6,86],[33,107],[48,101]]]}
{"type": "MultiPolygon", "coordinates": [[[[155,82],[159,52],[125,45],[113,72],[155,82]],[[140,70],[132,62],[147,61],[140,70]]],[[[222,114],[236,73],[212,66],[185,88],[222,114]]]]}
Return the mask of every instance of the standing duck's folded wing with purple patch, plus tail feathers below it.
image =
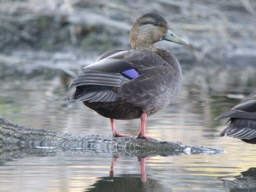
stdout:
{"type": "Polygon", "coordinates": [[[118,95],[115,88],[139,77],[143,69],[154,65],[152,61],[154,55],[156,54],[142,50],[107,52],[92,65],[84,67],[84,71],[74,78],[70,86],[76,86],[76,91],[68,95],[65,100],[77,99],[88,102],[116,100],[118,95]]]}

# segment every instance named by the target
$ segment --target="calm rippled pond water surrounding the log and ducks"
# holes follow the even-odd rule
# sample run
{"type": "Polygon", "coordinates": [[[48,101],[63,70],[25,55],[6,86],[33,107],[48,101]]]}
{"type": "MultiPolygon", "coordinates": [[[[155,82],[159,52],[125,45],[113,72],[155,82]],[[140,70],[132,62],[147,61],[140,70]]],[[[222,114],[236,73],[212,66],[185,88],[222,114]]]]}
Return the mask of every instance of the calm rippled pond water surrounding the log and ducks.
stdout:
{"type": "MultiPolygon", "coordinates": [[[[81,102],[62,100],[68,92],[61,76],[2,80],[0,114],[17,124],[70,134],[111,134],[107,118],[81,102]]],[[[227,93],[246,95],[253,88],[239,90],[233,84],[225,92],[204,92],[191,87],[187,83],[173,104],[148,117],[147,134],[227,153],[143,159],[51,148],[4,150],[0,151],[0,191],[256,191],[255,145],[216,138],[225,120],[213,121],[239,102],[227,93]]],[[[119,120],[116,127],[135,136],[140,120],[119,120]]]]}

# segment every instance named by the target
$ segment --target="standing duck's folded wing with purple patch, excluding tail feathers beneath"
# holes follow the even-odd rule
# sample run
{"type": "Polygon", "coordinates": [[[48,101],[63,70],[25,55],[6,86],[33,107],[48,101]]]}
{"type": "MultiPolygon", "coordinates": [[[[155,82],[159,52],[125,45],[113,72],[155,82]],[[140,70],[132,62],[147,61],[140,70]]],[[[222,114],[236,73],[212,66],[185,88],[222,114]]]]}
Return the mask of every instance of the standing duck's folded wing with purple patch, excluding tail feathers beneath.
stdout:
{"type": "MultiPolygon", "coordinates": [[[[118,51],[84,67],[70,86],[102,85],[118,87],[139,77],[143,70],[160,65],[156,53],[145,50],[118,51]]],[[[165,61],[164,61],[165,62],[165,61]]]]}

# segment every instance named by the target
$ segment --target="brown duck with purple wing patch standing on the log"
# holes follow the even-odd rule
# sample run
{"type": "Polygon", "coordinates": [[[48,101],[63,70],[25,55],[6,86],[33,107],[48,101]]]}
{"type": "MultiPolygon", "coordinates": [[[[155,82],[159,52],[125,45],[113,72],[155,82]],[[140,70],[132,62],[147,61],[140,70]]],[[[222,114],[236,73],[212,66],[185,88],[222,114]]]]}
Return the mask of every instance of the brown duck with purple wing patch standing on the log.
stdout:
{"type": "Polygon", "coordinates": [[[85,106],[110,119],[114,137],[131,137],[118,132],[115,120],[141,118],[136,138],[154,139],[146,134],[147,116],[170,104],[180,90],[182,70],[175,56],[156,42],[181,45],[166,20],[157,13],[139,17],[129,33],[131,50],[108,51],[84,67],[70,86],[76,90],[65,100],[81,100],[85,106]]]}

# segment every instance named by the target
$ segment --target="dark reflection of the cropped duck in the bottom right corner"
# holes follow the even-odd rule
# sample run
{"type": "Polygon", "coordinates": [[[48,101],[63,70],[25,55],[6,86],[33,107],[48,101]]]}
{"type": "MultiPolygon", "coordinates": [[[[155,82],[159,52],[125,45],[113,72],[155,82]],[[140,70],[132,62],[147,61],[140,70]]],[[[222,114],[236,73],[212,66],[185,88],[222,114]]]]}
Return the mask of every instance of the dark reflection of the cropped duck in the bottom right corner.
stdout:
{"type": "Polygon", "coordinates": [[[249,168],[232,179],[228,177],[221,180],[223,180],[223,186],[230,188],[230,191],[256,191],[256,168],[249,168]]]}

